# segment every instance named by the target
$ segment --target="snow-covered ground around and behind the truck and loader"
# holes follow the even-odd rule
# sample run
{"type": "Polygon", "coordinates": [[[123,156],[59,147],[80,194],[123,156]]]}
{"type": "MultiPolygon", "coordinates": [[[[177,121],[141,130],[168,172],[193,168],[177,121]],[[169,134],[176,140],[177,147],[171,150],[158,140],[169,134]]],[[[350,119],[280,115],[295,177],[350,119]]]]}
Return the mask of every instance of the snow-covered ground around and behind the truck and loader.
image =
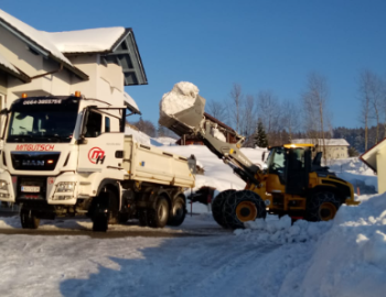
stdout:
{"type": "MultiPolygon", "coordinates": [[[[204,146],[161,148],[196,156],[205,169],[197,188],[244,187],[204,146]]],[[[256,163],[262,152],[244,150],[256,163]]],[[[356,158],[331,168],[376,185],[356,158]]],[[[106,234],[90,232],[86,219],[25,231],[18,217],[0,218],[1,296],[385,296],[386,195],[356,198],[362,205],[342,206],[331,222],[291,226],[288,217],[268,216],[234,232],[221,229],[205,206],[194,206],[202,213],[179,228],[133,222],[106,234]]]]}

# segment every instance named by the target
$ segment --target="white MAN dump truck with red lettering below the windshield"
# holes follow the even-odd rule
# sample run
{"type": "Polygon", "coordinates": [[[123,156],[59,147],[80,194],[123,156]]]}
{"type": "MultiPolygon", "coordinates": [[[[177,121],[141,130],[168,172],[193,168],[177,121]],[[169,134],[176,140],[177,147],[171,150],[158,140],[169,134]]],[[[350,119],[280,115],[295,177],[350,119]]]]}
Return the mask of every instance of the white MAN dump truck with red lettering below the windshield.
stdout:
{"type": "Polygon", "coordinates": [[[195,160],[126,135],[127,108],[76,92],[23,95],[2,110],[0,200],[20,205],[23,228],[77,213],[94,231],[130,218],[154,228],[183,222],[195,160]]]}

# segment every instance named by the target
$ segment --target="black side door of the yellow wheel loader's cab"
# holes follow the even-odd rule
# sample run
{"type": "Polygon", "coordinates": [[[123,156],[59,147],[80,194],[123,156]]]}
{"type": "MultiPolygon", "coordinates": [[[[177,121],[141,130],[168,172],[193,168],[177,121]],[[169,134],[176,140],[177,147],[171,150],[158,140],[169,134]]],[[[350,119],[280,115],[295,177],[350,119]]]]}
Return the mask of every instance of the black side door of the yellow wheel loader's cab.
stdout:
{"type": "Polygon", "coordinates": [[[286,156],[286,193],[303,195],[309,183],[310,150],[290,148],[286,156]]]}

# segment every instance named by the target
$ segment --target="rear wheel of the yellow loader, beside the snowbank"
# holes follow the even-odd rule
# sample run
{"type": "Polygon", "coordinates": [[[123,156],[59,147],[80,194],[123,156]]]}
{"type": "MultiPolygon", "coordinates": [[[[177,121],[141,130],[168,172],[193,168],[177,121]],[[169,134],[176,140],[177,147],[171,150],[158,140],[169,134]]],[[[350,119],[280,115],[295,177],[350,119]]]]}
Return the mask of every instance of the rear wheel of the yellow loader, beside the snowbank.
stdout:
{"type": "Polygon", "coordinates": [[[308,221],[329,221],[335,218],[342,200],[328,190],[317,191],[308,198],[305,219],[308,221]]]}

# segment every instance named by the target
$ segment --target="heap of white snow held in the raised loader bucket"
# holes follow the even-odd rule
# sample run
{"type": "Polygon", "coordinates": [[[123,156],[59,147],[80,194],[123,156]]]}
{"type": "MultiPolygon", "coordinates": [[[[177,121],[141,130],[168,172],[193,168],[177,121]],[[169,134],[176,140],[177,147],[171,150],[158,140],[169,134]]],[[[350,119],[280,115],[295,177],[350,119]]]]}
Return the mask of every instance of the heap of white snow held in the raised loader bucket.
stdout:
{"type": "Polygon", "coordinates": [[[160,101],[160,118],[173,116],[193,107],[199,95],[199,88],[189,81],[174,85],[170,92],[162,96],[160,101]]]}

